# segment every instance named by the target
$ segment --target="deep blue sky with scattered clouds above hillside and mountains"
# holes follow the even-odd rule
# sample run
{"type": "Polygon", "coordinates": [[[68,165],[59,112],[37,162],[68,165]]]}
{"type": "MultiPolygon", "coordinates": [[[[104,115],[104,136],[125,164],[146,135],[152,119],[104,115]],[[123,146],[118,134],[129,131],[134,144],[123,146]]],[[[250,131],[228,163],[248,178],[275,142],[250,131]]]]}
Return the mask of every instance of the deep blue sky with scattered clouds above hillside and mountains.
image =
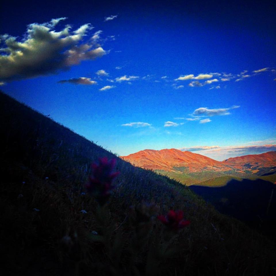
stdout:
{"type": "Polygon", "coordinates": [[[276,150],[275,4],[9,1],[0,13],[0,89],[114,153],[276,150]]]}

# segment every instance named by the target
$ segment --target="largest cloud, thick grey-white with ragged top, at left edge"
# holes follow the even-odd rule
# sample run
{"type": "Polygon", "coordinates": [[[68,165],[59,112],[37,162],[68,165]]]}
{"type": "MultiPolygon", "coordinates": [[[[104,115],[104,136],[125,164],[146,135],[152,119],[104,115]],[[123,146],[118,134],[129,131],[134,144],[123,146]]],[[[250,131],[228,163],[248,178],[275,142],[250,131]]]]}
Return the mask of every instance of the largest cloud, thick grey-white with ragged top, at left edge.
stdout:
{"type": "Polygon", "coordinates": [[[72,31],[66,25],[61,31],[55,26],[66,18],[28,25],[22,39],[4,34],[0,36],[0,80],[14,81],[41,75],[53,74],[79,64],[94,60],[107,52],[91,40],[91,24],[84,24],[72,31]],[[85,42],[87,41],[87,42],[85,42]]]}

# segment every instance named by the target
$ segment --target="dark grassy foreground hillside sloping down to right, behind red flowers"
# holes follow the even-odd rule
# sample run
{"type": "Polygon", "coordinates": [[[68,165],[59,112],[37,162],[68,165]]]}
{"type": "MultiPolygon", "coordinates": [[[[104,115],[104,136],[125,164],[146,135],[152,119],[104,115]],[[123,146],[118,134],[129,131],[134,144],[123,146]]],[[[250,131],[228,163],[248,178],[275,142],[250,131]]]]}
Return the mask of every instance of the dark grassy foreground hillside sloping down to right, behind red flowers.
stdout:
{"type": "Polygon", "coordinates": [[[5,275],[275,275],[275,240],[3,93],[0,131],[5,275]],[[83,185],[104,156],[120,175],[101,209],[83,185]],[[168,241],[156,215],[170,209],[191,224],[168,241]]]}

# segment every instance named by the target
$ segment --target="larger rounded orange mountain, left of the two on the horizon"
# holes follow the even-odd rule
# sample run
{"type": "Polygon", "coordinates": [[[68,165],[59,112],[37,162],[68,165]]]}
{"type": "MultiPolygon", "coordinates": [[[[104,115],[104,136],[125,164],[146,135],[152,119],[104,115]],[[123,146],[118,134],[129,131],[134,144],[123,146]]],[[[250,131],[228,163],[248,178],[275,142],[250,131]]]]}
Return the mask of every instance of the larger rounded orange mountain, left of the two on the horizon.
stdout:
{"type": "Polygon", "coordinates": [[[142,150],[128,156],[120,156],[135,166],[153,169],[175,171],[175,167],[185,167],[187,172],[202,171],[228,171],[232,166],[216,161],[209,157],[176,149],[165,150],[142,150]]]}

